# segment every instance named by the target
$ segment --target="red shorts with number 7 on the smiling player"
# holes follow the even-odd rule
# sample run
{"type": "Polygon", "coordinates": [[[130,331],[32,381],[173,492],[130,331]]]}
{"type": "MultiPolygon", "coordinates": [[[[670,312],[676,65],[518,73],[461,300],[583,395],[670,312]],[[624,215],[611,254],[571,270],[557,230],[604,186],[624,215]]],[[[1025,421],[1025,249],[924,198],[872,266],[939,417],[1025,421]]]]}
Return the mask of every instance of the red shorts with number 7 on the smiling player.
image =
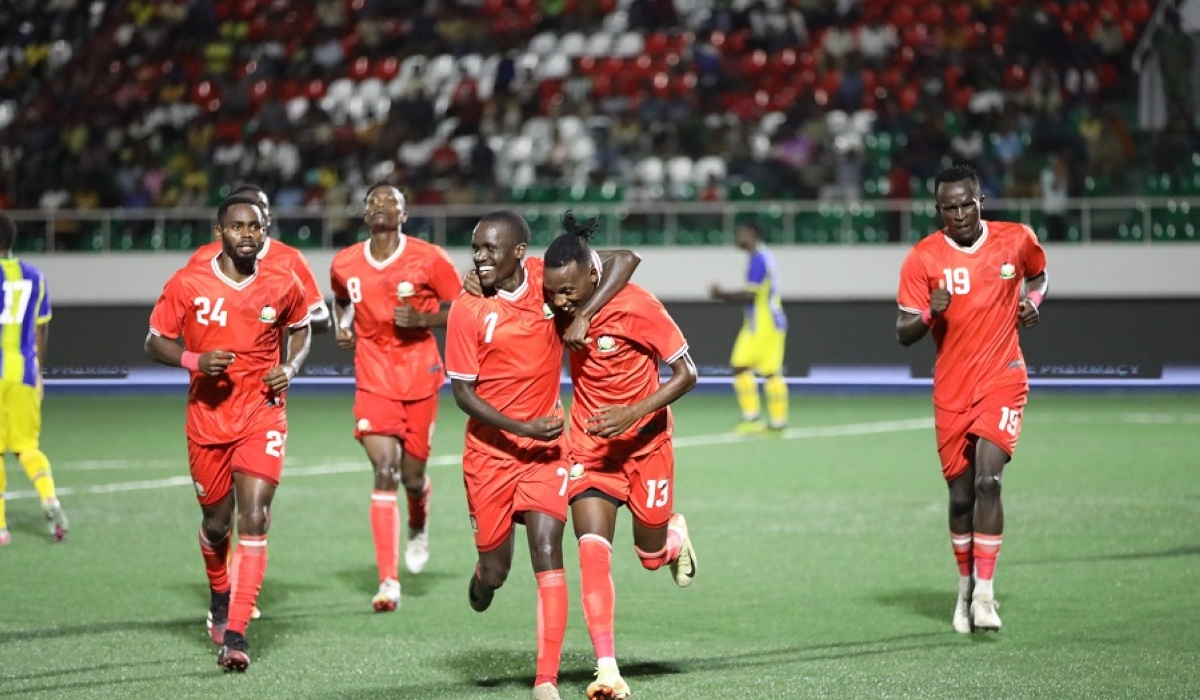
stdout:
{"type": "Polygon", "coordinates": [[[558,445],[530,461],[464,451],[462,480],[475,549],[486,552],[504,544],[514,523],[530,510],[566,522],[566,467],[558,445]]]}

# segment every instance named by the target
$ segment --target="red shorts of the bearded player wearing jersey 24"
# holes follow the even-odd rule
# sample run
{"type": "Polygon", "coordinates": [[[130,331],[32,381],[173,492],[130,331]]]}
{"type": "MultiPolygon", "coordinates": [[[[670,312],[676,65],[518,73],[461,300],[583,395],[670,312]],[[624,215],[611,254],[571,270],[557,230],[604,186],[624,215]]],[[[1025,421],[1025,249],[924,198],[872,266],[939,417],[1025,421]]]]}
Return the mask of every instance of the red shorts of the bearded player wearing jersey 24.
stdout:
{"type": "Polygon", "coordinates": [[[199,444],[187,441],[187,463],[200,505],[214,505],[233,489],[233,474],[240,472],[280,485],[287,424],[259,429],[238,442],[199,444]]]}

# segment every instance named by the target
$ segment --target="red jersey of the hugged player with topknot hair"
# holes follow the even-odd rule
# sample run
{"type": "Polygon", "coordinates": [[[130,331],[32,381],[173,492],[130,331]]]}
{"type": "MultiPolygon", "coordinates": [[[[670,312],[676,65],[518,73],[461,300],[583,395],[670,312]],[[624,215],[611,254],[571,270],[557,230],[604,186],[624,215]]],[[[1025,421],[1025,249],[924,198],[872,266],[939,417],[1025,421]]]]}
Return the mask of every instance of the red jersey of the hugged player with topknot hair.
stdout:
{"type": "Polygon", "coordinates": [[[671,438],[670,407],[643,415],[617,437],[588,435],[587,419],[601,406],[629,406],[658,391],[659,360],[676,361],[688,352],[688,341],[662,303],[632,283],[604,305],[588,334],[595,340],[570,353],[571,459],[601,465],[653,451],[671,438]]]}

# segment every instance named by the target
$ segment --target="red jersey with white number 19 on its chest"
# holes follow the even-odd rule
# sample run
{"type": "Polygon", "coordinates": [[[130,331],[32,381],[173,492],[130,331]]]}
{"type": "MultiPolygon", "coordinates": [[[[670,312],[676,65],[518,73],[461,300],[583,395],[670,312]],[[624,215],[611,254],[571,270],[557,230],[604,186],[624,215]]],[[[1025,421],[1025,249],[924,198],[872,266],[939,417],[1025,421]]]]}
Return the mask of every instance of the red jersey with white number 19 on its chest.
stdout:
{"type": "Polygon", "coordinates": [[[934,321],[934,405],[965,411],[994,387],[1028,383],[1018,336],[1021,285],[1045,271],[1038,237],[1021,223],[984,221],[970,249],[944,233],[925,237],[900,269],[900,309],[920,313],[940,281],[950,305],[934,321]]]}

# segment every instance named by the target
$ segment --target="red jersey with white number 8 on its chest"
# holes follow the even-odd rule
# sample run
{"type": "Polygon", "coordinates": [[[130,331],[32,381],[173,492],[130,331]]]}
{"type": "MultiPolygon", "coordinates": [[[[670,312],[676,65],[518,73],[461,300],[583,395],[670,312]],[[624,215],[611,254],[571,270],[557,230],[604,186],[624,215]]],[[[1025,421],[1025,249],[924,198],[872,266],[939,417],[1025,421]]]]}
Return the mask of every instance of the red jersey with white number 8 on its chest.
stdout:
{"type": "Polygon", "coordinates": [[[458,270],[440,247],[400,234],[385,261],[371,257],[371,241],[338,251],[330,269],[334,295],[354,304],[354,378],[358,388],[397,401],[437,393],[445,381],[438,343],[428,328],[400,329],[392,322],[404,299],[422,313],[462,292],[458,270]]]}

